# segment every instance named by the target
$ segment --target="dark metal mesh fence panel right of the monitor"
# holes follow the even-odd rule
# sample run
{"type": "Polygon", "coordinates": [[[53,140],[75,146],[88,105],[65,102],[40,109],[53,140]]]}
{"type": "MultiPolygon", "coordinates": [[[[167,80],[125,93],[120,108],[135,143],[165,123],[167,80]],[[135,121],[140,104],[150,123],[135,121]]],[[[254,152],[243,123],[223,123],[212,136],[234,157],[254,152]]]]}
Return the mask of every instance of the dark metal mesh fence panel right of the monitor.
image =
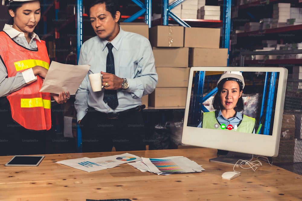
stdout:
{"type": "Polygon", "coordinates": [[[279,154],[273,164],[302,174],[302,80],[288,79],[279,154]]]}

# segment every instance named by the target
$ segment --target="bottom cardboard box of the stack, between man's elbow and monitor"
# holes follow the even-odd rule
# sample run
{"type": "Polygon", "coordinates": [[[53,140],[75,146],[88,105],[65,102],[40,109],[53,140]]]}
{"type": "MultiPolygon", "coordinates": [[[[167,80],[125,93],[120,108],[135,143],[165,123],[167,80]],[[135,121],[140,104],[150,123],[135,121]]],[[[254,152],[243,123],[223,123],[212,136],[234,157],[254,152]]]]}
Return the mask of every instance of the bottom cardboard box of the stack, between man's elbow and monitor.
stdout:
{"type": "Polygon", "coordinates": [[[149,94],[149,106],[183,107],[186,105],[188,87],[156,87],[149,94]]]}

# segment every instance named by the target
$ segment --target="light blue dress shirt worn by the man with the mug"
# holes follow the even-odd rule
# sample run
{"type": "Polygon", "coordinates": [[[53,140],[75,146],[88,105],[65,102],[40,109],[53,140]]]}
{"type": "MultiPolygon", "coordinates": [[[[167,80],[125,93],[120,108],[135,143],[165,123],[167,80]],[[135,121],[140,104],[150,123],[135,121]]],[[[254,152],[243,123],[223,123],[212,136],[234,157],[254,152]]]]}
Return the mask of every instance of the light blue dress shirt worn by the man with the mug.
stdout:
{"type": "MultiPolygon", "coordinates": [[[[79,65],[90,65],[88,74],[106,72],[106,60],[108,48],[107,40],[95,36],[83,43],[79,65]]],[[[129,83],[128,90],[117,90],[118,106],[115,110],[103,101],[104,88],[93,92],[88,74],[76,92],[75,108],[77,119],[81,120],[89,107],[100,112],[118,112],[134,108],[142,104],[143,95],[154,91],[158,76],[155,70],[154,56],[150,42],[144,36],[137,33],[123,31],[111,41],[114,56],[115,75],[126,78],[129,83]]]]}

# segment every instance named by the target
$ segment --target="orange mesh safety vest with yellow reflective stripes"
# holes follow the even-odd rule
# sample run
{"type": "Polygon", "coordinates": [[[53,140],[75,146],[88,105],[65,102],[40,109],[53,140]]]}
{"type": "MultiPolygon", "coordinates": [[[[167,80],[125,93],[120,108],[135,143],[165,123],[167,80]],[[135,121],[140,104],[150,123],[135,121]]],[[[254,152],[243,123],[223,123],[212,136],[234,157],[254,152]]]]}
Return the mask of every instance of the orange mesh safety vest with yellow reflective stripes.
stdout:
{"type": "MultiPolygon", "coordinates": [[[[37,50],[18,45],[7,33],[0,32],[0,56],[7,69],[8,77],[14,77],[34,66],[49,68],[49,57],[45,42],[37,42],[37,50]],[[26,58],[26,59],[24,59],[26,58]]],[[[50,93],[41,93],[43,78],[24,86],[7,96],[11,106],[11,116],[18,124],[29,130],[49,130],[51,128],[50,93]]]]}

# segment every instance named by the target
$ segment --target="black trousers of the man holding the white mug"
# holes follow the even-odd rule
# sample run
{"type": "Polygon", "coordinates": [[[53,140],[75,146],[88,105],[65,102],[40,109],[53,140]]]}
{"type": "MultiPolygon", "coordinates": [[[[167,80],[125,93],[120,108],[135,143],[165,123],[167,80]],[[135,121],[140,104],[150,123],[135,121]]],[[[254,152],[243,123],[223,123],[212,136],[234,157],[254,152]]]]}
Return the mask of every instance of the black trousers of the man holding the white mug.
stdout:
{"type": "Polygon", "coordinates": [[[146,150],[142,111],[108,119],[106,113],[88,110],[80,122],[83,152],[146,150]]]}

